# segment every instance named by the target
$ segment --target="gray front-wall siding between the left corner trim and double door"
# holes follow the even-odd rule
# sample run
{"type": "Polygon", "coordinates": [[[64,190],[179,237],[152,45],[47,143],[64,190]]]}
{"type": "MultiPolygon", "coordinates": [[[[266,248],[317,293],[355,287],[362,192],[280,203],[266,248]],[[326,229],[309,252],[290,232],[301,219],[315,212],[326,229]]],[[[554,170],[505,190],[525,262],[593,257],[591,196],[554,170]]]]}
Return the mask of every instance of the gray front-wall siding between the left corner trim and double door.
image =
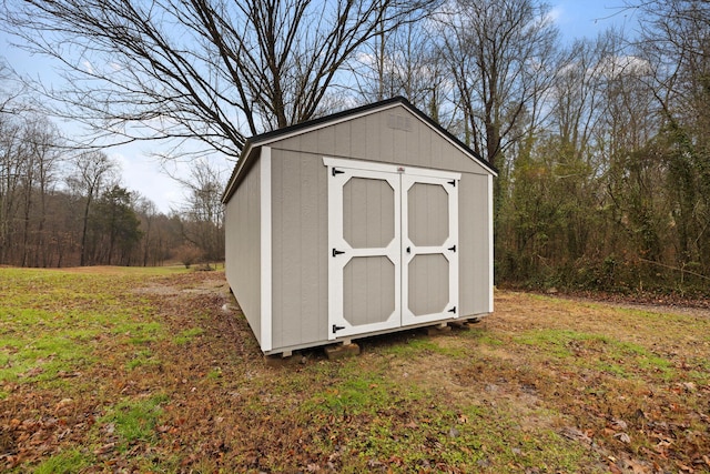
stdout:
{"type": "Polygon", "coordinates": [[[272,150],[273,347],[327,341],[323,158],[272,150]]]}

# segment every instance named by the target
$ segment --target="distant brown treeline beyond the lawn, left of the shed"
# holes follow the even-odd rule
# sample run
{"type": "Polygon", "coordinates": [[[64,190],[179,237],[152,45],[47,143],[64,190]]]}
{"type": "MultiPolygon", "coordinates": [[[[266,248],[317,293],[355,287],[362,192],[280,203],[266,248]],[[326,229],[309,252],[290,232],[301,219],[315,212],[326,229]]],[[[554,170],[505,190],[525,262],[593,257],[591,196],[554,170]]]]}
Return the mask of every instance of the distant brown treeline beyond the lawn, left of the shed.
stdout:
{"type": "Polygon", "coordinates": [[[162,265],[219,262],[222,184],[195,168],[186,204],[170,215],[124,188],[101,151],[65,147],[43,117],[7,100],[0,113],[0,264],[162,265]]]}

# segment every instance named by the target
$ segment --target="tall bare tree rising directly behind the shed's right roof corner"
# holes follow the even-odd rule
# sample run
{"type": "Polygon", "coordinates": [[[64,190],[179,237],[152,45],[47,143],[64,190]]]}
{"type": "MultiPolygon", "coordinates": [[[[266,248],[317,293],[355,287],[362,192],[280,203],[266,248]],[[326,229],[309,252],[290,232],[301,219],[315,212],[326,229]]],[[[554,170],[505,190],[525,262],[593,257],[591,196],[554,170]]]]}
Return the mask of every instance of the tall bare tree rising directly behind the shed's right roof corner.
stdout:
{"type": "Polygon", "coordinates": [[[534,0],[457,0],[437,16],[466,119],[465,140],[498,165],[549,87],[557,29],[534,0]]]}

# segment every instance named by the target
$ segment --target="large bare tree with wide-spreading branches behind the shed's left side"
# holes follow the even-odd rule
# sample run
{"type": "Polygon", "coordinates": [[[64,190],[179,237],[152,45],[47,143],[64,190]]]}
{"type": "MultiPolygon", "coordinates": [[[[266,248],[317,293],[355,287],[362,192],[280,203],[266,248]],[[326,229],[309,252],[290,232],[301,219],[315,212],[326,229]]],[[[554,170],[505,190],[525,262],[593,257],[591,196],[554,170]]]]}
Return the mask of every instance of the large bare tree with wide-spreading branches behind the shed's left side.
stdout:
{"type": "Polygon", "coordinates": [[[4,28],[59,60],[47,90],[97,135],[197,139],[236,158],[245,134],[305,121],[379,24],[432,0],[4,0],[4,28]]]}

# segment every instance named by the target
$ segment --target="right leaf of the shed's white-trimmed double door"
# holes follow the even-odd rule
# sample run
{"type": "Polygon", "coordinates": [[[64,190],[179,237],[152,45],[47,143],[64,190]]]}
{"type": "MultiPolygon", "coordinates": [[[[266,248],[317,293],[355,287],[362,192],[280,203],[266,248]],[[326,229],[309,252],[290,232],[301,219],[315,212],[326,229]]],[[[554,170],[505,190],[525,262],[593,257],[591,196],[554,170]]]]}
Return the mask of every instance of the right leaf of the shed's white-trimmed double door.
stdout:
{"type": "Polygon", "coordinates": [[[436,177],[402,177],[402,324],[457,317],[458,189],[436,177]]]}

